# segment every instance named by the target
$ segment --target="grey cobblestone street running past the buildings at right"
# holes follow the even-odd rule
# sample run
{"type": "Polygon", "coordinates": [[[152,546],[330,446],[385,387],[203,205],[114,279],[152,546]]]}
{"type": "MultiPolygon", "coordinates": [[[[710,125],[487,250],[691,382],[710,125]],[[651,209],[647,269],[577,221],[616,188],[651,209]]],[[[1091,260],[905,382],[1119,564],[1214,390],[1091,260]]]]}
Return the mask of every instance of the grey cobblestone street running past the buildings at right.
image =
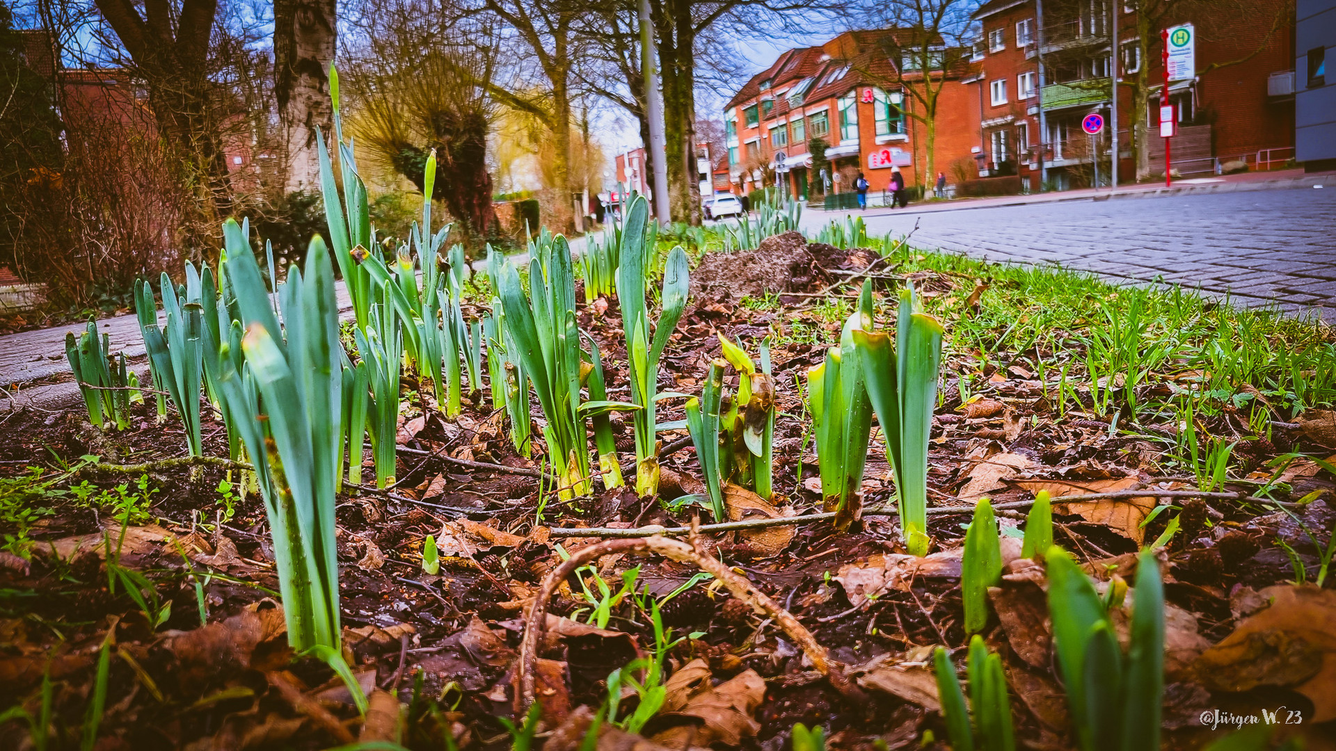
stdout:
{"type": "MultiPolygon", "coordinates": [[[[838,215],[807,211],[803,226],[815,231],[838,215]]],[[[1158,278],[1336,322],[1336,186],[949,211],[911,204],[866,222],[870,234],[904,234],[918,222],[918,247],[1158,278]]]]}

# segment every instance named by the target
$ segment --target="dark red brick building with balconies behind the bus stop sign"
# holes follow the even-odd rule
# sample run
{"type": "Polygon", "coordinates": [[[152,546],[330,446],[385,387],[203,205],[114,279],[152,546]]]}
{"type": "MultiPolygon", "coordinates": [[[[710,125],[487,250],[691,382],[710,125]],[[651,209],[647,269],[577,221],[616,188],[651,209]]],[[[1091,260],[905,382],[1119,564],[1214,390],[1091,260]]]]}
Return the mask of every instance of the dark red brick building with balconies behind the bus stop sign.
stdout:
{"type": "Polygon", "coordinates": [[[1194,59],[1188,75],[1169,84],[1178,119],[1170,139],[1173,168],[1190,176],[1214,174],[1229,162],[1283,166],[1293,155],[1295,124],[1293,41],[1284,0],[1261,0],[1245,13],[1209,9],[1170,9],[1158,25],[1150,24],[1142,53],[1137,15],[1124,3],[1049,0],[1039,17],[1034,0],[986,1],[974,13],[981,39],[973,56],[978,75],[971,79],[981,100],[979,174],[1018,174],[1035,190],[1046,172],[1054,187],[1067,188],[1092,184],[1098,164],[1101,184],[1108,184],[1110,131],[1090,138],[1081,122],[1092,112],[1110,120],[1117,60],[1120,178],[1137,174],[1132,126],[1141,107],[1149,126],[1149,172],[1162,175],[1160,27],[1180,25],[1193,37],[1194,59]],[[1136,92],[1142,73],[1144,100],[1136,92]]]}

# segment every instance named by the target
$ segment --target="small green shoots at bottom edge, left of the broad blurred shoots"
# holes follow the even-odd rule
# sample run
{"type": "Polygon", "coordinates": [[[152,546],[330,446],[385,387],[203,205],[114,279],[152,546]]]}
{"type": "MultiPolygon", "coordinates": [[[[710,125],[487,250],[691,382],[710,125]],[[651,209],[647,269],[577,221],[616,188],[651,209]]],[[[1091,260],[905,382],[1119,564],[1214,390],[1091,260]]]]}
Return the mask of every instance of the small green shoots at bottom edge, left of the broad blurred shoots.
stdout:
{"type": "Polygon", "coordinates": [[[978,633],[970,639],[966,676],[970,680],[970,707],[965,707],[965,694],[955,676],[955,665],[946,649],[933,653],[937,673],[937,692],[942,700],[946,734],[953,751],[1014,751],[1015,734],[1011,726],[1011,702],[1006,694],[1002,657],[989,652],[978,633]],[[971,722],[973,720],[973,722],[971,722]]]}

